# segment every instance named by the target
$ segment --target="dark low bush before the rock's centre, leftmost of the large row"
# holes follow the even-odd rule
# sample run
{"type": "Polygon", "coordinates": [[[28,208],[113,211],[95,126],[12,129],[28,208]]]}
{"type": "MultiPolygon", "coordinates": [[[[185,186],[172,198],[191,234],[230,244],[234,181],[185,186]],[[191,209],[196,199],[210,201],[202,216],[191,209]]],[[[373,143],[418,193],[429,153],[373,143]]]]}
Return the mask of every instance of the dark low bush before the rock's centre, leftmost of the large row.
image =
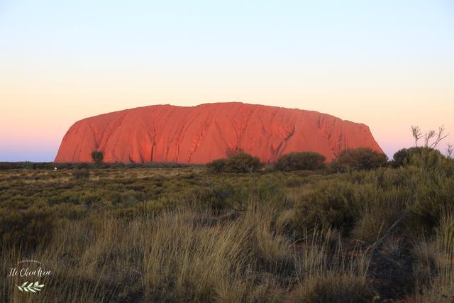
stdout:
{"type": "Polygon", "coordinates": [[[255,172],[262,166],[258,157],[243,152],[233,153],[226,159],[217,159],[207,164],[211,172],[255,172]]]}

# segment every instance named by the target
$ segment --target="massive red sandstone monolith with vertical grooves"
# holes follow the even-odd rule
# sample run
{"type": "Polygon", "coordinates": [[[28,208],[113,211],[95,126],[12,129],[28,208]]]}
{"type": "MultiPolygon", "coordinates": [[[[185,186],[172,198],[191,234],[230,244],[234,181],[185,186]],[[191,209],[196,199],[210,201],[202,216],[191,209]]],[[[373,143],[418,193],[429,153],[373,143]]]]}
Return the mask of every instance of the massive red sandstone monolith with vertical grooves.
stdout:
{"type": "Polygon", "coordinates": [[[55,162],[206,163],[243,148],[262,162],[313,151],[333,160],[341,150],[366,147],[382,153],[367,126],[328,114],[243,103],[194,107],[145,106],[77,121],[67,131],[55,162]]]}

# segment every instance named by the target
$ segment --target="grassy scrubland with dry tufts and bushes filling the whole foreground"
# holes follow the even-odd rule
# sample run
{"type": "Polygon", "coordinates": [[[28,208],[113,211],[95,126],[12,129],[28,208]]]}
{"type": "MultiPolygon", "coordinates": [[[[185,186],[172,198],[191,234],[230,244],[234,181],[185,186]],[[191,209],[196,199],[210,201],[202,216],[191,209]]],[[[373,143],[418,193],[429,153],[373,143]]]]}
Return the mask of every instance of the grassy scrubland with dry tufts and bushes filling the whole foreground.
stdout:
{"type": "Polygon", "coordinates": [[[52,275],[29,294],[4,274],[1,299],[453,302],[454,160],[419,151],[399,163],[359,150],[333,165],[4,165],[1,272],[33,258],[52,275]]]}

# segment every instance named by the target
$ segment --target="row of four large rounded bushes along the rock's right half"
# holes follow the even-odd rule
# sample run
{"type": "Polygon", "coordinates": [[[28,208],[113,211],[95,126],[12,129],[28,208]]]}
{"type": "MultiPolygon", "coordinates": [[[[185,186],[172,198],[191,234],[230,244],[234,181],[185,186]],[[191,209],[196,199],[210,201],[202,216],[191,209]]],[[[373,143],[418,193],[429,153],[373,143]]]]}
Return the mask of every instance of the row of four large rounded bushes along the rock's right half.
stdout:
{"type": "MultiPolygon", "coordinates": [[[[445,128],[441,126],[438,131],[421,133],[417,126],[411,126],[415,146],[402,148],[394,153],[393,159],[388,161],[387,155],[371,148],[355,148],[341,151],[338,157],[326,162],[326,157],[314,152],[288,153],[279,157],[272,163],[273,170],[326,170],[328,172],[348,172],[351,170],[373,170],[378,167],[402,167],[417,165],[420,167],[433,167],[445,159],[453,156],[454,147],[448,144],[446,155],[436,148],[446,138],[445,128]],[[423,145],[419,142],[423,141],[423,145]]],[[[245,153],[241,148],[227,150],[226,158],[217,159],[208,163],[211,172],[254,172],[264,165],[258,157],[245,153]]]]}

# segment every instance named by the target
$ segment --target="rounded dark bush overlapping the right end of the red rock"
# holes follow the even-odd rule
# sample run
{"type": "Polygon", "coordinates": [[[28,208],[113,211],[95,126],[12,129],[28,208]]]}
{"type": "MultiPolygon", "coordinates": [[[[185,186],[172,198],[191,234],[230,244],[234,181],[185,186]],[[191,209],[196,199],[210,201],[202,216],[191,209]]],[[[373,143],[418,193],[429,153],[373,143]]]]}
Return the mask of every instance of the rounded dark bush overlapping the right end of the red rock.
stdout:
{"type": "Polygon", "coordinates": [[[343,150],[331,167],[337,171],[372,170],[387,165],[387,156],[370,148],[343,150]]]}

